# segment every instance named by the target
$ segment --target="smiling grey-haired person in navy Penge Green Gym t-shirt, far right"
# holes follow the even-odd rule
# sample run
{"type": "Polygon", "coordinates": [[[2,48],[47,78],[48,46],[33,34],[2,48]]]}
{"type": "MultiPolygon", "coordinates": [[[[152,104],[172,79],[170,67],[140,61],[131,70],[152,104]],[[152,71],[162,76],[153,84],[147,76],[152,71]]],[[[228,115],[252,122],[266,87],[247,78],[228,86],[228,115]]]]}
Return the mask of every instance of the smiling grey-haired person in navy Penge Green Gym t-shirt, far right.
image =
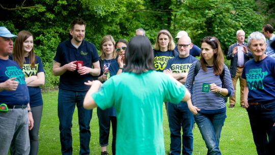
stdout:
{"type": "Polygon", "coordinates": [[[245,63],[244,106],[258,154],[274,154],[275,146],[275,59],[265,54],[265,36],[253,32],[248,45],[254,59],[245,63]]]}

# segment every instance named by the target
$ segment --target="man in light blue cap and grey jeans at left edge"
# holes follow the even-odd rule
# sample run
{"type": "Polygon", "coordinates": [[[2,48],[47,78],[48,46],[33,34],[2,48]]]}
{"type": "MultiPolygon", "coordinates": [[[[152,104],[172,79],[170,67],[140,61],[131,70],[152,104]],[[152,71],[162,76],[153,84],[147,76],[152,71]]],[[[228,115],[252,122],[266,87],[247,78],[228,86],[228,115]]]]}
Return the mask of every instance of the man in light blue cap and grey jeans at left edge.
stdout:
{"type": "Polygon", "coordinates": [[[0,152],[8,154],[29,154],[29,129],[34,125],[29,105],[29,91],[25,77],[9,55],[12,54],[12,38],[17,37],[0,27],[0,152]]]}

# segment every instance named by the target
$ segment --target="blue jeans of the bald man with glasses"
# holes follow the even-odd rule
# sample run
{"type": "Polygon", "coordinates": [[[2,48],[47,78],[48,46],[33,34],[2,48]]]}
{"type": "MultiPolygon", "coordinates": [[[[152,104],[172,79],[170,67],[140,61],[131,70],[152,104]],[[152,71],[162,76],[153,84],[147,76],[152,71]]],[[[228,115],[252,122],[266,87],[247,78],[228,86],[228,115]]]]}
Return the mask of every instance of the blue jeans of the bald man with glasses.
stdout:
{"type": "Polygon", "coordinates": [[[178,105],[168,104],[169,128],[170,128],[170,154],[181,152],[181,127],[182,127],[182,154],[192,154],[194,116],[189,111],[186,102],[178,105]]]}

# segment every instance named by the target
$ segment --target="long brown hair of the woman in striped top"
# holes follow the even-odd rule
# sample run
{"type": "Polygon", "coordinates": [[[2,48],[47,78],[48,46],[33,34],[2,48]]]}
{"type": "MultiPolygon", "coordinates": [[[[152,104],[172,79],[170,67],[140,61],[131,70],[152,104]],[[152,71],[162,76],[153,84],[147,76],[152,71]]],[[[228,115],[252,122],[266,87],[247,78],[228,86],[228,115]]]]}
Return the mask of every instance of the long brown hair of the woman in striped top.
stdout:
{"type": "MultiPolygon", "coordinates": [[[[213,56],[214,57],[214,60],[213,60],[214,74],[215,75],[221,74],[223,72],[224,63],[225,63],[224,54],[223,54],[223,51],[221,48],[221,43],[219,43],[219,41],[216,37],[211,37],[211,36],[204,37],[201,40],[201,44],[203,42],[209,44],[212,47],[212,49],[217,49],[217,52],[214,53],[214,56],[213,56]]],[[[201,57],[200,58],[201,67],[204,71],[206,71],[207,63],[206,63],[205,59],[203,58],[202,53],[201,53],[200,57],[201,57]]]]}

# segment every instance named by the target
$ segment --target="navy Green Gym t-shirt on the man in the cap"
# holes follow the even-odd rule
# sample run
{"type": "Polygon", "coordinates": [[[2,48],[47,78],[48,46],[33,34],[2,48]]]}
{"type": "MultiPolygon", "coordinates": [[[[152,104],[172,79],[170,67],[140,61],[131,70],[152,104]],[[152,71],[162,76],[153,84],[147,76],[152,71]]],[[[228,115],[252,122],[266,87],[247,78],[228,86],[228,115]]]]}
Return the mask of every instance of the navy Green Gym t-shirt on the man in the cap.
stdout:
{"type": "Polygon", "coordinates": [[[28,104],[30,96],[21,68],[15,61],[0,59],[0,83],[9,80],[12,77],[16,77],[16,81],[19,82],[17,89],[15,91],[1,91],[0,104],[19,106],[28,104]]]}

